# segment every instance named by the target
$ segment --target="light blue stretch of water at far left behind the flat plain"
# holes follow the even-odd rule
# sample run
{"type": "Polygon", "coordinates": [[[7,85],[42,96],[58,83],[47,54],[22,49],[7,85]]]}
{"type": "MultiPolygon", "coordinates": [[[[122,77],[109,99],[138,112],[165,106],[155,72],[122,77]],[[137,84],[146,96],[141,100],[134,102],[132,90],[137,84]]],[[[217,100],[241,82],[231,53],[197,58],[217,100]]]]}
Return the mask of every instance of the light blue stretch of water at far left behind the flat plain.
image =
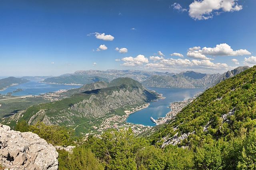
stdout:
{"type": "Polygon", "coordinates": [[[79,88],[81,86],[70,86],[62,84],[45,84],[39,82],[27,82],[17,86],[10,86],[6,90],[0,91],[0,94],[7,94],[17,89],[22,89],[20,92],[12,93],[12,96],[40,95],[48,92],[56,92],[61,89],[79,88]]]}

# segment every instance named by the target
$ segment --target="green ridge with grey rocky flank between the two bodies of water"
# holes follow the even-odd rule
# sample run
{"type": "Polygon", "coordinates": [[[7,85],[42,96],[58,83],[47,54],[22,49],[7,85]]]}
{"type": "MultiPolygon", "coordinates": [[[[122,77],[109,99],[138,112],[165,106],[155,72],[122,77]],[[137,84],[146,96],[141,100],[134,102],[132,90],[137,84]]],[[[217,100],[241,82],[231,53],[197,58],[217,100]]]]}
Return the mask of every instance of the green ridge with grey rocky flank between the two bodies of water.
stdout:
{"type": "Polygon", "coordinates": [[[80,132],[88,133],[95,130],[105,117],[125,115],[125,110],[142,106],[158,98],[158,94],[147,90],[131,78],[117,78],[103,84],[108,84],[108,87],[74,94],[57,102],[29,107],[4,122],[10,121],[10,125],[15,125],[16,121],[25,120],[28,124],[42,121],[47,125],[79,126],[74,129],[76,134],[81,135],[80,132]]]}

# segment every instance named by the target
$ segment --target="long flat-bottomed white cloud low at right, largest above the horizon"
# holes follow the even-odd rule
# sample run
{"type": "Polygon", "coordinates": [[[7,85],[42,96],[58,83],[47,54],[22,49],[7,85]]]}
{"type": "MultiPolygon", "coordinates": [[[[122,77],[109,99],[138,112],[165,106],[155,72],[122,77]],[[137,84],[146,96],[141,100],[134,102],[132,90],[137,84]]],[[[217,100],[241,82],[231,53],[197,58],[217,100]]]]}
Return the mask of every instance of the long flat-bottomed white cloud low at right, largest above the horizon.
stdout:
{"type": "Polygon", "coordinates": [[[251,53],[246,49],[239,49],[234,51],[228,44],[222,43],[216,45],[216,47],[192,47],[188,49],[187,56],[194,59],[212,60],[206,55],[211,56],[238,56],[238,55],[250,55],[251,53]]]}

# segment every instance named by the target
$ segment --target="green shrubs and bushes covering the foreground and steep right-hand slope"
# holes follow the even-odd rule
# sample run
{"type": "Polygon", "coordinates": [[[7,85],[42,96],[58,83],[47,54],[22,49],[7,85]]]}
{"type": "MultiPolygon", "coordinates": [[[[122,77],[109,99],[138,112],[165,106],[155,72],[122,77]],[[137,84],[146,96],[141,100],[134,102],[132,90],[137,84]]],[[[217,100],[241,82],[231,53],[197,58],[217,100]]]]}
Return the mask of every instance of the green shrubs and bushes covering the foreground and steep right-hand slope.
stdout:
{"type": "MultiPolygon", "coordinates": [[[[256,66],[206,90],[174,121],[148,137],[135,136],[131,129],[90,136],[73,153],[59,151],[60,169],[256,169],[255,83],[256,66]],[[184,133],[190,135],[180,144],[162,147],[174,134],[184,133]]],[[[27,126],[17,128],[26,130],[27,126]]],[[[50,141],[49,135],[38,129],[34,132],[50,141]]]]}

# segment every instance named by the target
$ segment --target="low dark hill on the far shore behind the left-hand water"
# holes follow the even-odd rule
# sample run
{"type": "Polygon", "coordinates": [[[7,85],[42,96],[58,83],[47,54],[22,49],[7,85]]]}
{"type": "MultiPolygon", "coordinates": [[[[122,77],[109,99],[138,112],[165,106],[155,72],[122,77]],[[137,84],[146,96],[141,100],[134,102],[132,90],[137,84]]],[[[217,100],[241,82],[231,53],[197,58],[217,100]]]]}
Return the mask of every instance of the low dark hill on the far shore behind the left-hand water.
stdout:
{"type": "Polygon", "coordinates": [[[46,78],[42,82],[51,84],[88,84],[98,81],[108,81],[106,78],[101,78],[98,76],[88,76],[88,75],[64,75],[52,78],[46,78]]]}

